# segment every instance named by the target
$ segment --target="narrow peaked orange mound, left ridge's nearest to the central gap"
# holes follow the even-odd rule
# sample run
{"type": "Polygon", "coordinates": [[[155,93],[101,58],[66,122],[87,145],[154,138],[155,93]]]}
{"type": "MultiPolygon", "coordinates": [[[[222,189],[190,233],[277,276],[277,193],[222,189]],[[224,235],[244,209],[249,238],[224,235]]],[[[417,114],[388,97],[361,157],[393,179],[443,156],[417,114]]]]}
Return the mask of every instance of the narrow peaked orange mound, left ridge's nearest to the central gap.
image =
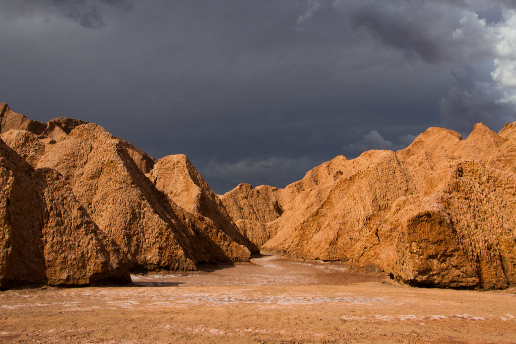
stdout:
{"type": "Polygon", "coordinates": [[[209,188],[190,160],[183,154],[169,155],[158,160],[150,172],[150,179],[158,190],[183,209],[199,214],[205,221],[229,236],[235,243],[251,252],[259,249],[238,231],[219,197],[209,188]]]}

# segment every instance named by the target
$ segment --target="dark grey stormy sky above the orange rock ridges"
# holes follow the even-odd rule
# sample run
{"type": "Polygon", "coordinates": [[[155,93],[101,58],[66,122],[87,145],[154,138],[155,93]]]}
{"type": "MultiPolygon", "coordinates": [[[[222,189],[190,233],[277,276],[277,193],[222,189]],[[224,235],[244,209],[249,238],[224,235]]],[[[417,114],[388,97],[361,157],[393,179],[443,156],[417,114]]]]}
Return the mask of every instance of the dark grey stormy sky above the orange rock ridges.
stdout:
{"type": "Polygon", "coordinates": [[[0,101],[277,187],[429,126],[516,120],[503,0],[0,0],[0,101]]]}

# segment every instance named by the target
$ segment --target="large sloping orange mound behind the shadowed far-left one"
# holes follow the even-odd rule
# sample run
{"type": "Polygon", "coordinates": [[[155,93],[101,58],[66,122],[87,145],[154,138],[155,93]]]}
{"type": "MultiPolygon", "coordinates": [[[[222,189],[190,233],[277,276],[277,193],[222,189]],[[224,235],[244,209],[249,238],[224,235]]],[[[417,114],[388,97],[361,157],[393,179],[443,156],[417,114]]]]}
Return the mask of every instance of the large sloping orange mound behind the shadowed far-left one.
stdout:
{"type": "Polygon", "coordinates": [[[54,144],[38,167],[63,175],[90,217],[120,244],[131,269],[192,270],[198,263],[249,259],[247,249],[158,191],[125,146],[102,127],[84,124],[54,144]]]}

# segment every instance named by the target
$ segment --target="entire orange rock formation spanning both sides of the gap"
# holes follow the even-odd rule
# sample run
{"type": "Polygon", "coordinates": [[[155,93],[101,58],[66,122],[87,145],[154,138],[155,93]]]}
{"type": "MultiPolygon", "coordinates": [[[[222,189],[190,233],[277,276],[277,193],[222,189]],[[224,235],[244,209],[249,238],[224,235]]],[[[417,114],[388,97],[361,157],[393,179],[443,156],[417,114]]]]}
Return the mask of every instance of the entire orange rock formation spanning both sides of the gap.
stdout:
{"type": "Polygon", "coordinates": [[[184,155],[156,161],[102,127],[0,103],[0,287],[129,281],[131,269],[344,260],[417,286],[516,284],[516,122],[467,139],[337,156],[284,189],[219,197],[184,155]],[[5,142],[4,142],[5,141],[5,142]]]}

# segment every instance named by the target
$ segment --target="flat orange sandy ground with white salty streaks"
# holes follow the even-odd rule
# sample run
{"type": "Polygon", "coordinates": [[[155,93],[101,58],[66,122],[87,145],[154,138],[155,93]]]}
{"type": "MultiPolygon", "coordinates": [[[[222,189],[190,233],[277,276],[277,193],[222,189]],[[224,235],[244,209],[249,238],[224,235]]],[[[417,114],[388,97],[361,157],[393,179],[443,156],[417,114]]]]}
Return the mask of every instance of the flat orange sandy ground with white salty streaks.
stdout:
{"type": "Polygon", "coordinates": [[[419,289],[264,255],[126,287],[0,291],[0,343],[516,343],[516,289],[419,289]]]}

